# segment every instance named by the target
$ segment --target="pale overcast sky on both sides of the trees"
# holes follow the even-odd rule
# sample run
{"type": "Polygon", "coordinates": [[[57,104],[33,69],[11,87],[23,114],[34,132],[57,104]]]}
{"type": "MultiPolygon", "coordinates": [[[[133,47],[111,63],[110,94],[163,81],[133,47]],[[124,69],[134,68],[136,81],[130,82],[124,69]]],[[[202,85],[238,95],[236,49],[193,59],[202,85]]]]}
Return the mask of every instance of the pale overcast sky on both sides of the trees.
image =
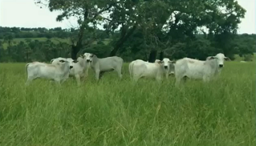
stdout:
{"type": "MultiPolygon", "coordinates": [[[[255,33],[255,0],[238,0],[245,8],[245,18],[238,33],[255,33]]],[[[34,0],[0,0],[0,26],[20,28],[71,28],[76,20],[56,21],[58,13],[35,6],[34,0]]]]}

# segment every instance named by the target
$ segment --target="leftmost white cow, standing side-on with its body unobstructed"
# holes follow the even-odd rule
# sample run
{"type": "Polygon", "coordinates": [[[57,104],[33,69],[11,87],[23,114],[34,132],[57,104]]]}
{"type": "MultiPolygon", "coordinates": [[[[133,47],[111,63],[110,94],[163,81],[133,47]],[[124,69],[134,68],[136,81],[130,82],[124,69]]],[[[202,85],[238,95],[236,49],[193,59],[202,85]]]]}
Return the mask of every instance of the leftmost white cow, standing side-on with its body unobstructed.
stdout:
{"type": "Polygon", "coordinates": [[[62,59],[56,64],[47,64],[42,62],[27,63],[25,69],[28,75],[25,85],[28,85],[32,80],[36,78],[46,78],[48,80],[54,80],[56,83],[63,83],[69,78],[69,71],[72,66],[69,62],[62,59]]]}

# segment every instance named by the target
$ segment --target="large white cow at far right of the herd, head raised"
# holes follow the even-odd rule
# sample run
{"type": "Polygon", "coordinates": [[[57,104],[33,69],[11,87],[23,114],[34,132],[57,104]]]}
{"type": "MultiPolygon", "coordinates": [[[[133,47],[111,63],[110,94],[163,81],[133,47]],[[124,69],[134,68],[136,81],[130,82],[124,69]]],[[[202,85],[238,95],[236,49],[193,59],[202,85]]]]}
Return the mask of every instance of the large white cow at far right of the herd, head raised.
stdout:
{"type": "Polygon", "coordinates": [[[228,59],[223,54],[207,57],[206,61],[183,58],[175,63],[176,85],[182,78],[202,79],[208,82],[214,75],[219,73],[219,68],[223,68],[224,59],[228,59]]]}

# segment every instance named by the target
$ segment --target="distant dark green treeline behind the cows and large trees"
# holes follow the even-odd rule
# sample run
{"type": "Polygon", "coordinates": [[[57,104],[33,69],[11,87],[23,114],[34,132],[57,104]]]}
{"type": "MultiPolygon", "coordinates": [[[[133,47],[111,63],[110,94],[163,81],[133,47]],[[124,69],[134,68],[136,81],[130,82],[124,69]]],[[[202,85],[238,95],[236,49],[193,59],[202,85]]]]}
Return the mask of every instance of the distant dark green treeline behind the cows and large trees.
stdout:
{"type": "MultiPolygon", "coordinates": [[[[4,28],[4,39],[1,39],[0,41],[1,62],[50,61],[50,59],[59,56],[70,57],[72,45],[71,37],[78,33],[77,30],[62,30],[62,28],[53,28],[49,30],[46,28],[42,28],[42,30],[38,28],[23,28],[22,30],[21,28],[18,30],[13,30],[13,28],[4,28]],[[66,32],[69,35],[66,37],[66,42],[56,42],[54,39],[50,38],[45,41],[40,41],[33,39],[32,37],[13,43],[16,38],[19,37],[9,37],[10,34],[18,34],[21,33],[22,30],[29,34],[41,33],[40,31],[44,30],[44,32],[50,36],[54,36],[54,34],[58,32],[66,32]],[[7,46],[6,49],[4,48],[4,45],[7,46]]],[[[96,32],[97,34],[95,36],[97,39],[95,39],[92,44],[84,46],[79,54],[82,54],[83,52],[91,52],[93,54],[97,54],[98,57],[107,57],[108,54],[110,54],[110,51],[113,49],[112,43],[115,42],[115,39],[120,35],[120,32],[115,32],[115,34],[112,35],[107,35],[103,30],[98,30],[96,32]]],[[[88,34],[88,32],[85,32],[84,35],[91,38],[88,34]]],[[[256,35],[248,34],[234,35],[233,41],[230,44],[232,46],[230,51],[233,51],[234,54],[239,54],[240,56],[245,57],[245,61],[250,61],[252,59],[252,52],[255,51],[255,37],[256,35]]],[[[216,52],[222,51],[221,48],[214,47],[213,44],[214,41],[207,39],[206,35],[196,35],[192,41],[179,42],[175,45],[170,45],[171,51],[165,51],[165,56],[172,59],[180,59],[185,56],[195,59],[205,59],[206,56],[214,55],[216,52]]],[[[118,55],[122,56],[125,61],[132,61],[134,59],[147,60],[150,55],[150,51],[148,49],[149,45],[150,44],[146,44],[141,31],[136,30],[136,32],[127,39],[122,47],[120,47],[118,55]]],[[[159,58],[161,54],[157,54],[156,56],[159,58]]],[[[234,56],[229,57],[234,59],[234,56]]]]}

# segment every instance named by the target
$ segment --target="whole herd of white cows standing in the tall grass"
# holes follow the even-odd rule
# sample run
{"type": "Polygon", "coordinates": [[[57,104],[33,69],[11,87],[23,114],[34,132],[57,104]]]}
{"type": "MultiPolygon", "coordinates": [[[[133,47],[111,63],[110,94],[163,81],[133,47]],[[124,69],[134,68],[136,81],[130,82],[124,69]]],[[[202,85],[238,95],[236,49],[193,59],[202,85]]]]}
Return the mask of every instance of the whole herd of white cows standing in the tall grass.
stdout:
{"type": "MultiPolygon", "coordinates": [[[[154,63],[137,59],[129,63],[129,74],[135,82],[140,78],[155,78],[159,83],[163,78],[168,78],[170,74],[175,75],[175,85],[179,85],[184,78],[200,79],[209,82],[211,78],[219,75],[223,68],[224,60],[229,60],[224,54],[209,56],[205,61],[197,59],[183,58],[177,61],[170,61],[164,58],[162,61],[156,59],[154,63]]],[[[95,73],[96,80],[99,80],[103,73],[115,71],[122,79],[122,66],[124,60],[118,56],[100,59],[95,54],[85,53],[73,60],[70,58],[59,57],[52,59],[49,63],[33,62],[25,65],[28,78],[25,85],[28,85],[36,78],[46,78],[54,80],[59,85],[73,76],[78,85],[81,80],[88,76],[91,68],[95,73]]]]}

